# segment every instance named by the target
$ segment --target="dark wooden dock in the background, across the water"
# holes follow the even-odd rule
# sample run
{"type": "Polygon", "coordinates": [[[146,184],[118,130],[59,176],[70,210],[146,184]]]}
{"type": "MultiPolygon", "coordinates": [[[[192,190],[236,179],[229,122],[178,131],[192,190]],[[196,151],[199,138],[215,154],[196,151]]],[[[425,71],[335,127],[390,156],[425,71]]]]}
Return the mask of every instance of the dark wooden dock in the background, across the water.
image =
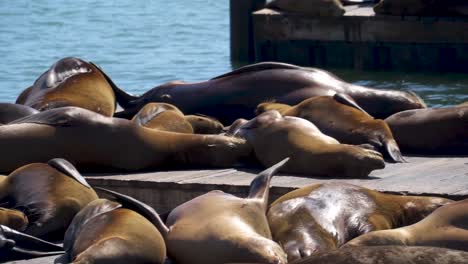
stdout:
{"type": "MultiPolygon", "coordinates": [[[[243,38],[254,45],[244,49],[253,49],[255,61],[303,66],[468,72],[468,17],[376,15],[372,6],[347,6],[340,17],[258,10],[251,14],[251,39],[243,38]]],[[[231,45],[240,40],[231,39],[231,45]]],[[[232,59],[238,54],[231,53],[232,59]]]]}

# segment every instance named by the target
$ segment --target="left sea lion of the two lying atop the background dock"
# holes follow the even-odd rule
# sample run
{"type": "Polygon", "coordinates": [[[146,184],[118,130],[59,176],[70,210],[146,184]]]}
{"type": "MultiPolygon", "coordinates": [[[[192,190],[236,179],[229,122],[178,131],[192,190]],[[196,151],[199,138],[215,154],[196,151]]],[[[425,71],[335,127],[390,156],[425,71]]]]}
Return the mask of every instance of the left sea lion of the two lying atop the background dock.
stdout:
{"type": "Polygon", "coordinates": [[[342,16],[345,13],[339,0],[273,0],[265,7],[307,16],[342,16]]]}

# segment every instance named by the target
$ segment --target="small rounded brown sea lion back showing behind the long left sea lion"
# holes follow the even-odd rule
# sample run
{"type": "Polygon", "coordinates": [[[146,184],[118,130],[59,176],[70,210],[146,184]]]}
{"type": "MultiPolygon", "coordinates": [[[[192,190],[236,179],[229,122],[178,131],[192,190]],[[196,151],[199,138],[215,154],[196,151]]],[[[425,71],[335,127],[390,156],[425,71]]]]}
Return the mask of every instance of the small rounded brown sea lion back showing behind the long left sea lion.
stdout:
{"type": "Polygon", "coordinates": [[[132,119],[138,125],[168,132],[193,134],[192,125],[177,107],[165,103],[149,103],[132,119]]]}

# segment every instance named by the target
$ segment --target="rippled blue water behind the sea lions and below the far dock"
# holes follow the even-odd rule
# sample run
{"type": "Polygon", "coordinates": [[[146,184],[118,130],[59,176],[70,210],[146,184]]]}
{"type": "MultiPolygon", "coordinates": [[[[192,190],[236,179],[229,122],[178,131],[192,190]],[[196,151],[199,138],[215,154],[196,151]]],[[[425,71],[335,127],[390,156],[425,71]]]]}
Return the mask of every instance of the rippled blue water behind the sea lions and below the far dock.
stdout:
{"type": "MultiPolygon", "coordinates": [[[[229,57],[228,0],[0,1],[0,101],[14,102],[68,56],[100,65],[134,94],[239,65],[229,57]]],[[[328,70],[361,85],[412,90],[431,106],[468,101],[466,74],[328,70]]]]}

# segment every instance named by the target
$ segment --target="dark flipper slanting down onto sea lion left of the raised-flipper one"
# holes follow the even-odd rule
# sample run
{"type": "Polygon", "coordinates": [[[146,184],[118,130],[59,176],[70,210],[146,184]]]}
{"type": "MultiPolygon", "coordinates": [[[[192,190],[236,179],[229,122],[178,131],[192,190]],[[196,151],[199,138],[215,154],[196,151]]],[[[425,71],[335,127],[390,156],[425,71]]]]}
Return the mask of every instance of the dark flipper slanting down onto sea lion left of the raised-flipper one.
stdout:
{"type": "Polygon", "coordinates": [[[134,210],[135,212],[143,215],[146,219],[153,223],[153,225],[156,226],[159,232],[161,232],[161,235],[164,238],[166,238],[169,229],[161,220],[156,210],[154,210],[152,207],[128,195],[124,195],[118,192],[99,187],[96,187],[95,189],[111,195],[117,200],[117,202],[121,203],[124,207],[134,210]]]}

